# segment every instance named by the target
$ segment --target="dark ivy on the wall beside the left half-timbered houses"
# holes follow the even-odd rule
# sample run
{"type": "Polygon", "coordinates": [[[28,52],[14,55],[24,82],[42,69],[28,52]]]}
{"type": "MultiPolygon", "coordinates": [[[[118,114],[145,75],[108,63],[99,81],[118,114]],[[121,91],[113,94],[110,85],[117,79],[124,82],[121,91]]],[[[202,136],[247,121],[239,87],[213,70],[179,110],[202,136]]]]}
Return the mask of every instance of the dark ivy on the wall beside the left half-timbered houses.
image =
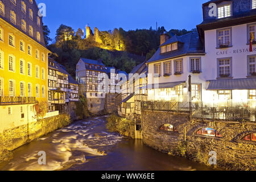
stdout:
{"type": "Polygon", "coordinates": [[[90,116],[88,111],[87,100],[84,95],[79,96],[79,102],[76,102],[75,113],[81,119],[85,119],[90,116]]]}

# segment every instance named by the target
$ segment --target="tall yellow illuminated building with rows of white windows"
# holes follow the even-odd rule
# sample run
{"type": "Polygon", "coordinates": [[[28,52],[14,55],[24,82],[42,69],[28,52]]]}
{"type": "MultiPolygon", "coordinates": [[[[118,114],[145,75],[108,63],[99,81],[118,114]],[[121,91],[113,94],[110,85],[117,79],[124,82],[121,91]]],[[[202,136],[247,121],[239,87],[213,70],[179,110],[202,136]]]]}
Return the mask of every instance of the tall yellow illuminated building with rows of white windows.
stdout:
{"type": "Polygon", "coordinates": [[[36,101],[47,103],[49,51],[38,11],[35,1],[0,1],[1,130],[36,121],[36,101]]]}

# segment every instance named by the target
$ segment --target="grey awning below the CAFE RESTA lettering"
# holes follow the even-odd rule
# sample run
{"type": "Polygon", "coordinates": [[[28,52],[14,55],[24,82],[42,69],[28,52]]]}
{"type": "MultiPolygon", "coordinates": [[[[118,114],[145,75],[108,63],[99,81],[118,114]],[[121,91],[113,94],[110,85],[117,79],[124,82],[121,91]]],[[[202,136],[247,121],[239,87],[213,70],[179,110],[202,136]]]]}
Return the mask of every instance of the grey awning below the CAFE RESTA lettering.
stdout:
{"type": "Polygon", "coordinates": [[[210,80],[207,90],[256,89],[256,78],[210,80]]]}

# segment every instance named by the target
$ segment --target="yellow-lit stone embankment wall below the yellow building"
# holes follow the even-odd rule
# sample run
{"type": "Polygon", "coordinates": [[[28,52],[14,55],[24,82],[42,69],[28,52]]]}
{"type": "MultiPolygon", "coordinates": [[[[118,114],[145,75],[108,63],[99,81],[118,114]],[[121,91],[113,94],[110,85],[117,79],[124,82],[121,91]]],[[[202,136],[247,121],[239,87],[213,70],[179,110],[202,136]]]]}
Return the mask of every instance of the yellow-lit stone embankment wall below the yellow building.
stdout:
{"type": "Polygon", "coordinates": [[[10,151],[15,148],[61,127],[68,126],[70,123],[71,119],[68,114],[60,114],[3,131],[0,133],[0,160],[7,159],[10,151]]]}

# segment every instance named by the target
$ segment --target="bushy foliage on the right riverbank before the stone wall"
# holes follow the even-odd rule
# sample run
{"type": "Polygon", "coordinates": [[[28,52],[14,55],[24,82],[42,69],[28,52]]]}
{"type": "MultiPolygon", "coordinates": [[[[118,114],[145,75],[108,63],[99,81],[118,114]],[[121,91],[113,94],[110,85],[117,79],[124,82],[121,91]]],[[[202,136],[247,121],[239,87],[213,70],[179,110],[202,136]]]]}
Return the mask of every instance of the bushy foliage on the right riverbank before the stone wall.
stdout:
{"type": "Polygon", "coordinates": [[[133,121],[126,118],[121,118],[115,114],[110,115],[110,117],[108,117],[106,120],[106,129],[108,131],[118,132],[125,136],[131,136],[134,127],[133,121]]]}

